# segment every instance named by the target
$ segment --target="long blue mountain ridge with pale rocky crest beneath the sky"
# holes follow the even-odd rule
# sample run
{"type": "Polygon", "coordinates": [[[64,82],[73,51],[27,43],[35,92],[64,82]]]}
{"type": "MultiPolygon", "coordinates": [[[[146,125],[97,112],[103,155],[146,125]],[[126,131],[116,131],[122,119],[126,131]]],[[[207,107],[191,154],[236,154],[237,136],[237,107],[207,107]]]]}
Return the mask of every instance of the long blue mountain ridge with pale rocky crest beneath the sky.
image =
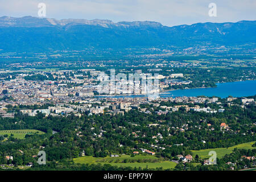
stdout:
{"type": "Polygon", "coordinates": [[[241,46],[256,43],[256,21],[196,23],[0,17],[0,49],[16,52],[158,46],[241,46]]]}

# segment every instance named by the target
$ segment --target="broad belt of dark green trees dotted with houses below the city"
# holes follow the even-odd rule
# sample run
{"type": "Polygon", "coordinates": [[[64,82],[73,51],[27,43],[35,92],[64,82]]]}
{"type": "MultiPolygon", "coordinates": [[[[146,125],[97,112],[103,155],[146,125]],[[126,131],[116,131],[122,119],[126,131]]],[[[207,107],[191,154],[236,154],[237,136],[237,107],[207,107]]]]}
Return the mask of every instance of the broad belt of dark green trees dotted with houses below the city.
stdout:
{"type": "MultiPolygon", "coordinates": [[[[36,162],[37,158],[32,156],[37,155],[39,150],[46,151],[48,162],[65,162],[81,156],[82,152],[88,156],[105,157],[110,154],[131,155],[134,148],[137,151],[139,148],[146,148],[155,151],[156,156],[175,159],[179,154],[191,154],[191,150],[230,147],[256,140],[255,135],[251,134],[255,133],[253,123],[256,107],[246,107],[243,109],[227,105],[224,107],[225,113],[215,114],[180,110],[158,115],[154,112],[146,114],[130,110],[125,115],[83,114],[81,118],[73,114],[67,117],[45,117],[44,114],[38,113],[36,117],[29,117],[18,113],[15,118],[0,118],[0,130],[36,129],[46,134],[33,135],[26,139],[9,137],[5,142],[1,142],[0,163],[24,165],[27,162],[36,162]],[[229,125],[229,131],[220,129],[222,122],[229,125]],[[148,124],[151,123],[159,125],[149,127],[148,124]],[[208,123],[212,126],[208,127],[208,123]],[[213,131],[210,130],[212,127],[213,131]],[[181,131],[181,128],[185,130],[181,131]],[[57,133],[52,134],[52,130],[57,133]],[[133,132],[137,137],[132,134],[133,132]],[[156,142],[152,137],[159,134],[162,135],[162,139],[157,138],[156,142]],[[183,145],[179,145],[181,143],[183,145]],[[151,145],[166,149],[160,150],[151,145]],[[23,151],[23,154],[19,150],[23,151]],[[13,156],[14,160],[6,161],[6,155],[13,156]]],[[[155,107],[154,110],[159,108],[155,107]]]]}

